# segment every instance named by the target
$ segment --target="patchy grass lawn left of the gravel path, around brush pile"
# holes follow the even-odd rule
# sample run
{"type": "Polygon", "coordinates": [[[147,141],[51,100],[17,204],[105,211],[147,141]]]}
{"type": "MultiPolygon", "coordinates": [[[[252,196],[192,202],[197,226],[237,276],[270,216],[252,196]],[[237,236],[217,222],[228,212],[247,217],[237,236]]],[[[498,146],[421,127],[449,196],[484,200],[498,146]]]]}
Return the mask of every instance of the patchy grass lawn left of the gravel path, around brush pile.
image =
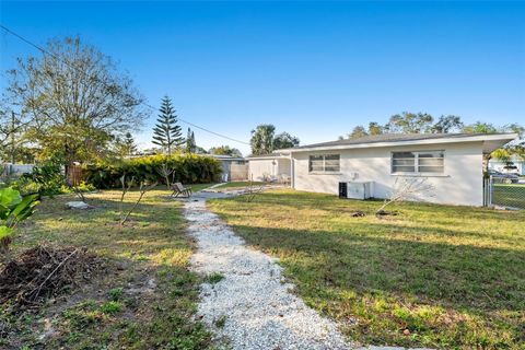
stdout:
{"type": "MultiPolygon", "coordinates": [[[[107,262],[89,283],[37,314],[11,316],[0,305],[0,325],[7,325],[0,348],[209,347],[210,334],[191,320],[200,283],[188,270],[192,242],[185,233],[182,205],[166,199],[168,194],[148,192],[124,228],[116,221],[119,191],[88,195],[89,203],[96,207],[88,211],[65,209],[72,196],[44,199],[15,237],[14,253],[38,243],[83,246],[107,262]],[[43,334],[48,336],[39,340],[43,334]]],[[[126,208],[137,197],[131,191],[126,208]]]]}

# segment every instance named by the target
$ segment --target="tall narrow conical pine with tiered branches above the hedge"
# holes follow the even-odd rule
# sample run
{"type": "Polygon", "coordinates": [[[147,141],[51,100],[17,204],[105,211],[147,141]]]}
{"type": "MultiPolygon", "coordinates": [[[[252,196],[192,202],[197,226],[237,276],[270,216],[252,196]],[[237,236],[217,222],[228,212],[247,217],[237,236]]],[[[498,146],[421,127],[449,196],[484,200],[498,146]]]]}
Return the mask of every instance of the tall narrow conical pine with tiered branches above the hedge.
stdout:
{"type": "Polygon", "coordinates": [[[171,155],[172,151],[184,143],[182,128],[177,125],[177,116],[170,97],[164,96],[160,108],[161,114],[153,128],[153,143],[162,147],[171,155]]]}

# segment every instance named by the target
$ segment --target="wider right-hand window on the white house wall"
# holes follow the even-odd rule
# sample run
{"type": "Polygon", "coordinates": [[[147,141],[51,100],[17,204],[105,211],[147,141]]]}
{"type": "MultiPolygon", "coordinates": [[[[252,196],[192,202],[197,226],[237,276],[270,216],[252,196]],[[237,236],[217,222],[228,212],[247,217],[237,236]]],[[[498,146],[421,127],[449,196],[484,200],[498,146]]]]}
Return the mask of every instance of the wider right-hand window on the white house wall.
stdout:
{"type": "Polygon", "coordinates": [[[443,174],[444,151],[393,152],[393,174],[443,174]]]}

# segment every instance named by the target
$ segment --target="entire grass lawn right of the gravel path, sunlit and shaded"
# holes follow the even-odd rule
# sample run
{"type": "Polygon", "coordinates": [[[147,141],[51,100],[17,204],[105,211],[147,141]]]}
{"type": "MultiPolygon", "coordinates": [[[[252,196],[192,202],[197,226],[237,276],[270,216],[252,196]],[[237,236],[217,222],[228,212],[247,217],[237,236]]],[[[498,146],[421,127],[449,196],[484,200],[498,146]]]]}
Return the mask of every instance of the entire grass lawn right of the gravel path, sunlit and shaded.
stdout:
{"type": "Polygon", "coordinates": [[[209,203],[351,339],[524,349],[524,211],[400,203],[377,219],[380,206],[293,190],[209,203]]]}

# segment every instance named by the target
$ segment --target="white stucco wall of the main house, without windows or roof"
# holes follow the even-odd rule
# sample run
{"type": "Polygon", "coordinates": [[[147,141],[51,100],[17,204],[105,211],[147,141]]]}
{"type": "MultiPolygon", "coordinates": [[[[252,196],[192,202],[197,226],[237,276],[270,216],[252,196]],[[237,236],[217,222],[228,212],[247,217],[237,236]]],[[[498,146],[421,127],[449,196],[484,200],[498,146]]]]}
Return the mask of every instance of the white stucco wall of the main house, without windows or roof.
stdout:
{"type": "Polygon", "coordinates": [[[432,196],[420,200],[438,203],[482,206],[482,144],[481,142],[447,143],[424,147],[369,148],[323,152],[298,152],[294,159],[293,187],[299,190],[338,194],[339,182],[351,182],[357,173],[359,182],[374,182],[373,196],[388,197],[399,175],[390,173],[390,154],[397,151],[444,150],[444,174],[428,177],[434,189],[432,196]],[[310,174],[308,156],[313,154],[340,154],[337,174],[310,174]]]}

